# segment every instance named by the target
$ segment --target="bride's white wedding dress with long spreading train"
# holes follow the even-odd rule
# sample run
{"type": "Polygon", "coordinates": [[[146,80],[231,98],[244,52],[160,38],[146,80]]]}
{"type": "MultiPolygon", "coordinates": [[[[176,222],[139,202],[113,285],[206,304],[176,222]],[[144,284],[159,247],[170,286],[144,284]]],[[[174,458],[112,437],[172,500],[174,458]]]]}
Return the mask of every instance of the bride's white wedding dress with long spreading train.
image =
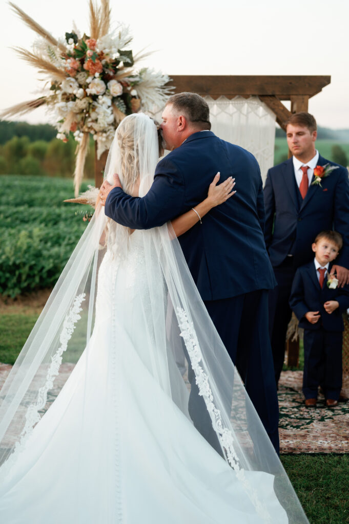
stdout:
{"type": "MultiPolygon", "coordinates": [[[[147,367],[150,319],[138,307],[139,294],[147,292],[142,234],[131,235],[125,260],[104,256],[89,365],[84,353],[18,457],[2,487],[1,522],[264,521],[231,467],[147,367]],[[125,291],[128,299],[120,300],[125,291]]],[[[287,522],[273,476],[245,474],[272,510],[272,522],[287,522]]]]}

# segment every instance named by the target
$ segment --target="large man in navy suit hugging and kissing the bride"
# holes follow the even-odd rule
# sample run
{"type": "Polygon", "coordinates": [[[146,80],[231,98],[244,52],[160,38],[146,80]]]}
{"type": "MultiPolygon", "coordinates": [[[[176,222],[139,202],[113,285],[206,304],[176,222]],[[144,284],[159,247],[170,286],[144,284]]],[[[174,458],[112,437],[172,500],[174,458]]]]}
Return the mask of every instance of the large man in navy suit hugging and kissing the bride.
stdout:
{"type": "Polygon", "coordinates": [[[172,151],[158,163],[152,187],[143,198],[133,198],[119,182],[113,187],[104,182],[105,214],[133,229],[161,226],[206,198],[217,171],[221,181],[230,176],[236,179],[234,199],[212,209],[179,237],[179,243],[211,319],[278,451],[278,399],[268,333],[268,290],[276,282],[263,237],[258,162],[245,149],[209,130],[209,108],[197,94],[170,97],[162,118],[163,136],[172,151]]]}

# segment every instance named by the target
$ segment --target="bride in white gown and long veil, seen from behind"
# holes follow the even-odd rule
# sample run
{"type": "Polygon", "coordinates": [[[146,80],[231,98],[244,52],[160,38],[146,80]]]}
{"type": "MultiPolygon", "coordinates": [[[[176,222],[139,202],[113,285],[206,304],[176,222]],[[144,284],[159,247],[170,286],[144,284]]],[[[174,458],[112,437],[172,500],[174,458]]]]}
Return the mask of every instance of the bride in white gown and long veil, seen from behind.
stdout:
{"type": "MultiPolygon", "coordinates": [[[[105,175],[143,196],[157,160],[130,115],[105,175]]],[[[0,393],[2,522],[308,522],[179,248],[197,220],[131,231],[97,205],[0,393]]]]}

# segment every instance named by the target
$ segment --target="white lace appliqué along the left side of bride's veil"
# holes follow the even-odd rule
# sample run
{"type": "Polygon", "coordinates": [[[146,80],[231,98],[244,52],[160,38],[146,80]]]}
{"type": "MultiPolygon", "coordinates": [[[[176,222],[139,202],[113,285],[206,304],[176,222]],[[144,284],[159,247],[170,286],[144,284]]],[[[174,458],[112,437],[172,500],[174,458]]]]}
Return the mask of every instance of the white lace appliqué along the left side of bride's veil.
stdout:
{"type": "Polygon", "coordinates": [[[51,363],[47,371],[45,385],[39,389],[36,403],[31,404],[27,409],[25,416],[26,422],[22,432],[20,433],[19,440],[14,446],[14,451],[1,468],[1,471],[4,472],[4,476],[10,473],[11,468],[17,460],[18,454],[25,449],[25,445],[29,436],[31,433],[33,433],[35,425],[41,418],[39,411],[44,409],[46,406],[47,393],[53,387],[54,380],[59,373],[59,367],[62,363],[62,355],[67,350],[68,341],[71,339],[73,331],[75,330],[75,324],[81,318],[79,313],[82,311],[81,303],[85,299],[85,296],[85,293],[81,293],[75,297],[73,305],[64,319],[63,328],[59,337],[60,346],[56,353],[51,357],[51,363]]]}

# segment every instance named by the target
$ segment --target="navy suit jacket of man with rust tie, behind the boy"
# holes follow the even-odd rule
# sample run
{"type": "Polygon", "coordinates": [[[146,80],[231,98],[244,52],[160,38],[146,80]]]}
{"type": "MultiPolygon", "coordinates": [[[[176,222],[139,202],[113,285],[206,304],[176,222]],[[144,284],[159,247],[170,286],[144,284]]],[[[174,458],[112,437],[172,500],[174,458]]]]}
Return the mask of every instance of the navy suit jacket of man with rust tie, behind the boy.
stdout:
{"type": "MultiPolygon", "coordinates": [[[[318,165],[326,163],[337,165],[319,156],[318,165]]],[[[339,166],[322,179],[321,186],[310,185],[299,204],[292,158],[269,169],[264,188],[265,240],[273,267],[279,266],[288,254],[293,254],[295,267],[306,264],[314,257],[311,245],[316,235],[334,229],[343,236],[343,248],[336,264],[349,269],[347,170],[339,166]]]]}

